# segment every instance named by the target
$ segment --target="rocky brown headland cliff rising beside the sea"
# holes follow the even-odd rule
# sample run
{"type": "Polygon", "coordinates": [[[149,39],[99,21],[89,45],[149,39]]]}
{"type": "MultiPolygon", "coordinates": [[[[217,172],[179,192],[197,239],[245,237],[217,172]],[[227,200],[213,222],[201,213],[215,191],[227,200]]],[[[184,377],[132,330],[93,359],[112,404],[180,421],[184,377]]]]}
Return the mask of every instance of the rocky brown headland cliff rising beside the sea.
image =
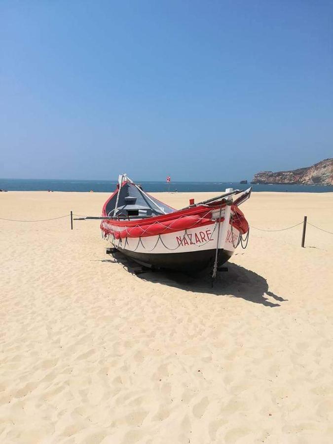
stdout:
{"type": "Polygon", "coordinates": [[[325,159],[307,168],[291,171],[263,171],[254,175],[252,184],[333,185],[333,159],[325,159]]]}

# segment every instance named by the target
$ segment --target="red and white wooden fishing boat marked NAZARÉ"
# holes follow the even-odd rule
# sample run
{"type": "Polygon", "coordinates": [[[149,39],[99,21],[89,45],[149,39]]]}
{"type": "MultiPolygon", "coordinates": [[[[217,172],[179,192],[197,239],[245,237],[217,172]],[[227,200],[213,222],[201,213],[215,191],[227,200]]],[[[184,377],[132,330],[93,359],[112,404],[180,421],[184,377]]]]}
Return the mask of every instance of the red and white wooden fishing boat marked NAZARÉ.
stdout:
{"type": "Polygon", "coordinates": [[[239,205],[251,195],[227,189],[222,195],[176,210],[145,192],[126,174],[102,211],[101,230],[112,247],[152,269],[216,270],[249,235],[239,205]],[[244,237],[243,237],[244,236],[244,237]]]}

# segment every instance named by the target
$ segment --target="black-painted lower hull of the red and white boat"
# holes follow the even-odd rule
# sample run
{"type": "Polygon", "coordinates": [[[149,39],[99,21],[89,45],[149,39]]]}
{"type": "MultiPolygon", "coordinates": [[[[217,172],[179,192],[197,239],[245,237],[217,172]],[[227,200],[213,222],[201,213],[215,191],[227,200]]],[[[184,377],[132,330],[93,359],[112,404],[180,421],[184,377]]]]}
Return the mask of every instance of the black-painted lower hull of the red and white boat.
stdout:
{"type": "MultiPolygon", "coordinates": [[[[204,270],[208,267],[213,267],[216,249],[214,250],[200,250],[190,251],[186,253],[137,253],[122,248],[117,248],[130,259],[146,265],[151,268],[161,268],[166,270],[195,272],[204,270]]],[[[218,266],[221,266],[233,255],[233,251],[219,249],[218,252],[218,266]]]]}

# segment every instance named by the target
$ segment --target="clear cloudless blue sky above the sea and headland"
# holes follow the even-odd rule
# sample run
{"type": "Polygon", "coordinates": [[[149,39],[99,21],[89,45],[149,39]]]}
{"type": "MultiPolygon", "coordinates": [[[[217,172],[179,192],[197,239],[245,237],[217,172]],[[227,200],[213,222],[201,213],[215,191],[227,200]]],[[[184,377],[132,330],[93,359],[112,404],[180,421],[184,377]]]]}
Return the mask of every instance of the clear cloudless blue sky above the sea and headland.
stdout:
{"type": "Polygon", "coordinates": [[[1,1],[0,177],[251,180],[333,157],[333,2],[1,1]]]}

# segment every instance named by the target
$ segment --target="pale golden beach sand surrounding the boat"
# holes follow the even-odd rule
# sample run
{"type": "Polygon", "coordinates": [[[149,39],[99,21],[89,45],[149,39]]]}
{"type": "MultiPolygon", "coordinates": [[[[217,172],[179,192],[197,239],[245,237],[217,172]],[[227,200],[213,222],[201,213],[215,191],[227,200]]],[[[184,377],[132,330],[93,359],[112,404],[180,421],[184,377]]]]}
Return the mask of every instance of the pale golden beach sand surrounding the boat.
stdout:
{"type": "MultiPolygon", "coordinates": [[[[105,193],[0,193],[0,217],[105,193]]],[[[156,193],[175,207],[207,193],[156,193]]],[[[253,193],[250,225],[333,231],[333,193],[253,193]]],[[[251,230],[207,273],[130,274],[99,222],[0,221],[0,442],[332,443],[333,235],[251,230]]]]}

